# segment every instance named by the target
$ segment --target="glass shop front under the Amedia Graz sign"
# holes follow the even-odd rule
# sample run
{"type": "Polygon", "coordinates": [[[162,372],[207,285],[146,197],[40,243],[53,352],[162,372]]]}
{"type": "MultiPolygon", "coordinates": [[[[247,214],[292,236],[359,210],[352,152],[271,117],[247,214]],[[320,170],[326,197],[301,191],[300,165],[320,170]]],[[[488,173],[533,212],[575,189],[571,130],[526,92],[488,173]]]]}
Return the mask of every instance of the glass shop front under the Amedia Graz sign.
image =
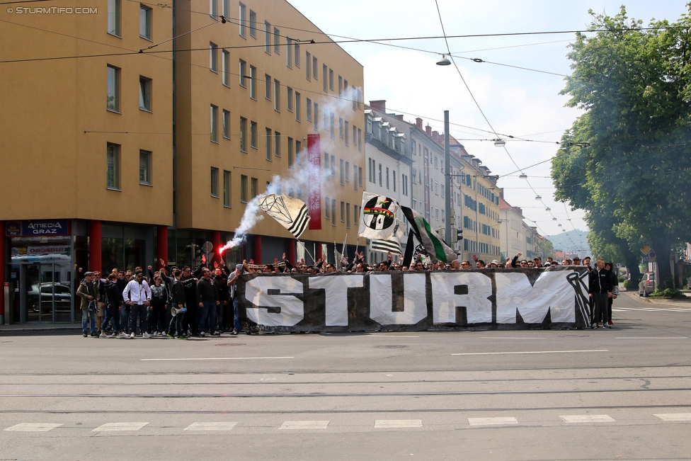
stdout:
{"type": "Polygon", "coordinates": [[[69,224],[69,220],[6,223],[6,323],[74,321],[74,251],[69,224]]]}

